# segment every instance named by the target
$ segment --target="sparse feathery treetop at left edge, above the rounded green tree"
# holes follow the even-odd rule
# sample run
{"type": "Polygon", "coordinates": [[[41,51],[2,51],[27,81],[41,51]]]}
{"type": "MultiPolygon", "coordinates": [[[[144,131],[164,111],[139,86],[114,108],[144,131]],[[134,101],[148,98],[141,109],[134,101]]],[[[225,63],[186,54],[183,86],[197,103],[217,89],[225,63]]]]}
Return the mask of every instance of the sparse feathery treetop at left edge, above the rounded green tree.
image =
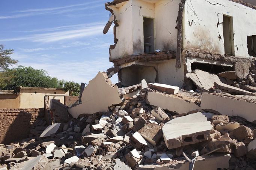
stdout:
{"type": "Polygon", "coordinates": [[[10,57],[13,53],[13,49],[3,49],[4,46],[0,44],[0,70],[9,68],[9,65],[17,64],[18,61],[10,57]]]}

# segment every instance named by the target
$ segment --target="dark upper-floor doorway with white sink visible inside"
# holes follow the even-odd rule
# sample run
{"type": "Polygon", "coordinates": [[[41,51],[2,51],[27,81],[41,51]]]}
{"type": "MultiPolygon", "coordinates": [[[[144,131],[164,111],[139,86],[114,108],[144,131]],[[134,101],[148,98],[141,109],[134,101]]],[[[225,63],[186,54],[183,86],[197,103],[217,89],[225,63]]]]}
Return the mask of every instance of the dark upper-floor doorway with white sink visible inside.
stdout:
{"type": "Polygon", "coordinates": [[[144,52],[146,54],[155,52],[154,19],[143,18],[144,52]]]}

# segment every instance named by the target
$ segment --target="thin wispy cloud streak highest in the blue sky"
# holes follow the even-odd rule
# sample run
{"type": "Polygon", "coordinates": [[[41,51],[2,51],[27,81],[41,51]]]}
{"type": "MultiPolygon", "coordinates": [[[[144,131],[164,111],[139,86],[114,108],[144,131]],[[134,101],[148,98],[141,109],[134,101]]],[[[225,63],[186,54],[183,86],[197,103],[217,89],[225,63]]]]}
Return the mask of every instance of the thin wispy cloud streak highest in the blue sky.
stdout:
{"type": "Polygon", "coordinates": [[[81,4],[72,4],[68,6],[60,6],[60,7],[51,7],[51,8],[41,8],[41,9],[26,9],[26,10],[17,10],[13,13],[17,13],[14,15],[8,15],[8,16],[0,16],[0,19],[12,19],[12,18],[22,18],[26,16],[35,16],[35,15],[43,15],[43,14],[60,14],[60,13],[67,13],[77,10],[85,10],[85,9],[92,9],[95,7],[99,7],[103,5],[104,0],[94,0],[87,3],[81,3],[81,4]],[[97,4],[93,5],[96,3],[97,4]]]}

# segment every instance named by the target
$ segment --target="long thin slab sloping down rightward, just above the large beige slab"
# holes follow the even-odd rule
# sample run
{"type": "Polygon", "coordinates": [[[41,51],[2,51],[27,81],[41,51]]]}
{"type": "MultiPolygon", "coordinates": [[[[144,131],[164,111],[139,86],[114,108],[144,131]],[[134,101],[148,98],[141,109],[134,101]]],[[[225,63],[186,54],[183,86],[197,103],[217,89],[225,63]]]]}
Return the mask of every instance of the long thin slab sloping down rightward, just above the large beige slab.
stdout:
{"type": "Polygon", "coordinates": [[[253,92],[246,91],[246,90],[243,90],[243,89],[240,89],[240,88],[237,88],[237,87],[234,87],[234,86],[230,86],[230,85],[227,85],[227,84],[224,84],[224,83],[221,83],[221,82],[218,82],[218,83],[214,82],[214,85],[215,85],[216,88],[221,89],[223,92],[227,92],[227,93],[230,93],[230,94],[256,95],[253,92]]]}

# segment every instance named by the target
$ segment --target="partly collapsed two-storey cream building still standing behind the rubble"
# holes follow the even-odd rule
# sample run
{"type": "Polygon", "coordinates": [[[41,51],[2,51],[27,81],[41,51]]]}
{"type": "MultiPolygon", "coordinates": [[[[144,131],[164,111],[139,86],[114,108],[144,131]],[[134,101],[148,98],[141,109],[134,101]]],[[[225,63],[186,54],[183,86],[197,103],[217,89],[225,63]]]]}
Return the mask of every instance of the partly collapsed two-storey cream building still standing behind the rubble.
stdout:
{"type": "MultiPolygon", "coordinates": [[[[255,3],[255,2],[254,2],[255,3]]],[[[151,83],[192,89],[186,74],[235,71],[246,79],[256,57],[255,6],[236,0],[114,0],[114,63],[122,86],[151,83]],[[238,2],[238,3],[236,3],[238,2]]]]}

